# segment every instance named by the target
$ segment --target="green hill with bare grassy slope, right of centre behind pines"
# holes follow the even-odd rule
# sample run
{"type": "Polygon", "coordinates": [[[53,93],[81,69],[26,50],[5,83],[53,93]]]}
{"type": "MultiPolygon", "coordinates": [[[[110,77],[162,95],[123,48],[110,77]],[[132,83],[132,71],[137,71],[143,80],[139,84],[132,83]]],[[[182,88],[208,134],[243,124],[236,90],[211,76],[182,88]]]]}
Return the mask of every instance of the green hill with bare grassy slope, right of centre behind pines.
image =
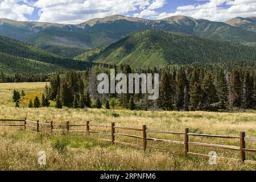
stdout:
{"type": "Polygon", "coordinates": [[[84,57],[86,61],[118,65],[125,63],[132,68],[193,63],[221,65],[237,61],[256,63],[256,48],[151,30],[138,32],[101,51],[85,53],[84,57]]]}

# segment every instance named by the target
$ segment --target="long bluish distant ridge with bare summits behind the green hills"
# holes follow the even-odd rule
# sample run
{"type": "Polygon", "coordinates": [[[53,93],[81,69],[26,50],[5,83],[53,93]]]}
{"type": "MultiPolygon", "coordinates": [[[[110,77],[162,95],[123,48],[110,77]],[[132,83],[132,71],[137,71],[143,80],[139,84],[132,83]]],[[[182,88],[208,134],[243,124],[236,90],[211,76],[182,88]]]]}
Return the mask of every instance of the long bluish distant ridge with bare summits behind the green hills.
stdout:
{"type": "Polygon", "coordinates": [[[256,32],[222,22],[210,22],[188,16],[172,16],[159,20],[112,15],[81,24],[16,22],[0,19],[0,35],[9,36],[70,58],[84,49],[109,46],[135,32],[145,30],[172,31],[225,40],[247,45],[256,44],[256,32]],[[70,48],[70,50],[68,49],[70,48]],[[77,48],[77,52],[74,48],[77,48]]]}

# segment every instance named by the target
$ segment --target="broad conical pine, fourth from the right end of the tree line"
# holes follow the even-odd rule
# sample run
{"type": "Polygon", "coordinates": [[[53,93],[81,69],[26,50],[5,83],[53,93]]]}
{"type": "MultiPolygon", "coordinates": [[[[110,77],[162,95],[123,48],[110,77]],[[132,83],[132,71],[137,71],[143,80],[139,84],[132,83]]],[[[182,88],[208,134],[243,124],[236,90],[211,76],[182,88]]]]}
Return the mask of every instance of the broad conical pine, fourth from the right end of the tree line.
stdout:
{"type": "Polygon", "coordinates": [[[203,78],[202,81],[202,92],[203,97],[201,102],[203,103],[204,107],[208,107],[210,104],[214,104],[217,102],[217,96],[216,96],[216,88],[213,84],[214,79],[212,77],[212,74],[210,72],[207,72],[203,78]]]}

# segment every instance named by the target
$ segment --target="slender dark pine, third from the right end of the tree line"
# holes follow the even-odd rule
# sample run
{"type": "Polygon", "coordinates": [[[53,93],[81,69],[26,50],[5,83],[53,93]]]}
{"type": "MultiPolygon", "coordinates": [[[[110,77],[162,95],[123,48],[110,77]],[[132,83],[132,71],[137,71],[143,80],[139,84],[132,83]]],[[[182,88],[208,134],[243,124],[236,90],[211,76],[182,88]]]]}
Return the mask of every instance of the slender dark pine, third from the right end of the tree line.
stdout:
{"type": "Polygon", "coordinates": [[[218,94],[218,100],[221,102],[221,109],[226,109],[226,102],[228,101],[228,82],[226,81],[225,74],[221,70],[218,72],[217,77],[217,94],[218,94]]]}

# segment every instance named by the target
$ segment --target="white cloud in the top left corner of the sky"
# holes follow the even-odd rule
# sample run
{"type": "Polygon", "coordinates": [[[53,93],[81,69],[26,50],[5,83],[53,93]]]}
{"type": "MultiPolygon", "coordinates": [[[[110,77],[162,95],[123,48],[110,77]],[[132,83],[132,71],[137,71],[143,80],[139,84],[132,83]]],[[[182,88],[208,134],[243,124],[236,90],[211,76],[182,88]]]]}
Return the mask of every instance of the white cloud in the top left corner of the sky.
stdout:
{"type": "Polygon", "coordinates": [[[34,11],[34,8],[29,5],[30,3],[31,2],[27,0],[0,0],[0,18],[20,21],[27,20],[24,15],[31,15],[34,11]],[[20,2],[22,2],[23,5],[21,5],[20,2]]]}

